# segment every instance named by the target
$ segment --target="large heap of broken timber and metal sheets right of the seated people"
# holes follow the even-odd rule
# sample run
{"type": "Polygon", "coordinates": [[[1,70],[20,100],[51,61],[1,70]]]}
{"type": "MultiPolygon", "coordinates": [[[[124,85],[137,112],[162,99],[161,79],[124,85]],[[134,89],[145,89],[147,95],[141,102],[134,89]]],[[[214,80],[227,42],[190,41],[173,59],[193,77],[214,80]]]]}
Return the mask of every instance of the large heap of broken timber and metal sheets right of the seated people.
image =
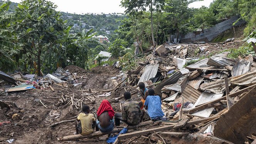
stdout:
{"type": "MultiPolygon", "coordinates": [[[[130,71],[126,84],[135,86],[145,82],[147,87],[155,89],[170,119],[162,122],[170,125],[168,130],[190,133],[196,130],[231,143],[251,143],[256,137],[254,57],[230,59],[229,52],[219,49],[222,44],[202,45],[159,46],[156,49],[159,56],[146,56],[144,64],[130,71]],[[193,50],[198,52],[192,55],[189,52],[193,50]]],[[[165,128],[154,131],[167,130],[165,128]]],[[[146,133],[132,132],[125,138],[146,133]]]]}

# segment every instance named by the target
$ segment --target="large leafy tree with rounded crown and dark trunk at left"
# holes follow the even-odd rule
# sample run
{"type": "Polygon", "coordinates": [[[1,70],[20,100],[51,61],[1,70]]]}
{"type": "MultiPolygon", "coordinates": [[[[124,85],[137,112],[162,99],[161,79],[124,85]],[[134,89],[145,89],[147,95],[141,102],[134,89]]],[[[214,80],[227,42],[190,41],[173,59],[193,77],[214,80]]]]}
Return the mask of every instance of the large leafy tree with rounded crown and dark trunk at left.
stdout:
{"type": "Polygon", "coordinates": [[[15,27],[23,49],[37,57],[37,74],[41,75],[41,55],[56,44],[64,30],[61,13],[56,5],[46,0],[24,0],[16,11],[22,20],[15,27]]]}

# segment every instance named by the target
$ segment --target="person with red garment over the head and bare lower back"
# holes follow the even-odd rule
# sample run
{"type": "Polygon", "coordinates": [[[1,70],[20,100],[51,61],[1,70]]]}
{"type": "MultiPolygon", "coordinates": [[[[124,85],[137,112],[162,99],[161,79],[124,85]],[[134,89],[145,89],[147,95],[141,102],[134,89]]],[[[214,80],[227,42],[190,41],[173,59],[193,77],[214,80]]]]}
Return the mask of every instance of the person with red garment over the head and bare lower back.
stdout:
{"type": "Polygon", "coordinates": [[[99,129],[101,132],[111,132],[115,126],[113,120],[114,115],[115,112],[109,101],[106,99],[102,100],[97,111],[96,131],[99,129]]]}

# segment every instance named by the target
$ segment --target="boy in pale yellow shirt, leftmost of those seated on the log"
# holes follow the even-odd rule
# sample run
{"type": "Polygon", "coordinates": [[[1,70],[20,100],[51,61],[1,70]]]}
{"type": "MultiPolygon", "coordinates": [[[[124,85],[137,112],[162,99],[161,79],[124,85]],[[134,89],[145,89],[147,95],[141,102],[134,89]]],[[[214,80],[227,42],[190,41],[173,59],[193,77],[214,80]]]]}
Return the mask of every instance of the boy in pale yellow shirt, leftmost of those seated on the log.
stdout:
{"type": "Polygon", "coordinates": [[[82,110],[75,121],[76,134],[88,135],[91,134],[95,127],[95,117],[90,113],[88,105],[83,105],[82,110]]]}

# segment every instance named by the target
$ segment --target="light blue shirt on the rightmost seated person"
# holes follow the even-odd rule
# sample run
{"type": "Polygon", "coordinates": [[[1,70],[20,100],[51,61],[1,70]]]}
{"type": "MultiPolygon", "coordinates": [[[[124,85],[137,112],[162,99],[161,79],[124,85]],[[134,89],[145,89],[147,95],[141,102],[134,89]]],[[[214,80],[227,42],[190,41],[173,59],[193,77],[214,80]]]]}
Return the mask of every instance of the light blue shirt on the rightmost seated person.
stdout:
{"type": "Polygon", "coordinates": [[[162,101],[158,95],[148,95],[144,105],[148,106],[148,115],[151,119],[163,117],[165,115],[161,109],[161,104],[162,101]]]}

